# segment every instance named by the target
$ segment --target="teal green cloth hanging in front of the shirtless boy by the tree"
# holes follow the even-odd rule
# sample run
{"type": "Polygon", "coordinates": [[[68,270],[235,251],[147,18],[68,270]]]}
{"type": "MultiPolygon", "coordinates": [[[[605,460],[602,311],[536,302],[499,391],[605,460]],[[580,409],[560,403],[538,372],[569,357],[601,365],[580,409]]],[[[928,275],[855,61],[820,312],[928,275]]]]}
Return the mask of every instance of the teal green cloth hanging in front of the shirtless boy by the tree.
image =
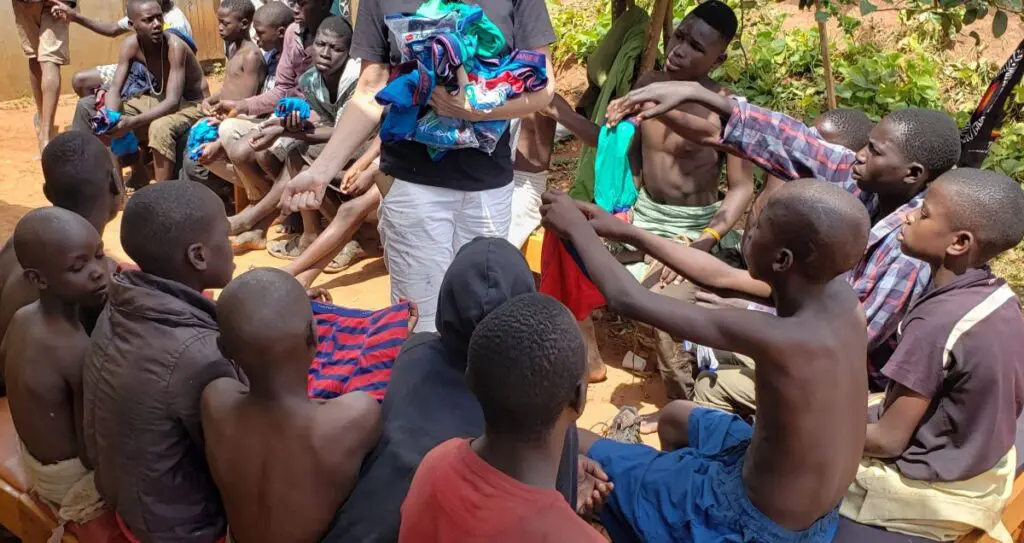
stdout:
{"type": "Polygon", "coordinates": [[[630,145],[636,131],[636,125],[629,122],[618,123],[614,128],[601,127],[594,160],[594,202],[609,213],[628,210],[637,201],[637,187],[630,167],[630,145]]]}

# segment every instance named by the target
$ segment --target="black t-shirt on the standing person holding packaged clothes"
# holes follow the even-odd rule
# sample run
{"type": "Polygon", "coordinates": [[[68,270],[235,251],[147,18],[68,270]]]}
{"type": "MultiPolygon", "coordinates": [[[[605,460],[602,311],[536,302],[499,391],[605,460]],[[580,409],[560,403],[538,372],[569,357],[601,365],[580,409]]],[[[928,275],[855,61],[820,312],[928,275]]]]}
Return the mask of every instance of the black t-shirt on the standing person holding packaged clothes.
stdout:
{"type": "MultiPolygon", "coordinates": [[[[505,35],[509,50],[540,49],[555,41],[555,31],[544,0],[466,0],[479,5],[505,35]]],[[[385,15],[413,13],[422,0],[364,0],[359,2],[351,55],[364,62],[401,61],[398,43],[384,25],[385,15]]],[[[512,182],[512,152],[508,131],[492,155],[467,149],[449,152],[435,162],[426,145],[415,141],[385,143],[381,170],[419,184],[485,191],[512,182]]]]}

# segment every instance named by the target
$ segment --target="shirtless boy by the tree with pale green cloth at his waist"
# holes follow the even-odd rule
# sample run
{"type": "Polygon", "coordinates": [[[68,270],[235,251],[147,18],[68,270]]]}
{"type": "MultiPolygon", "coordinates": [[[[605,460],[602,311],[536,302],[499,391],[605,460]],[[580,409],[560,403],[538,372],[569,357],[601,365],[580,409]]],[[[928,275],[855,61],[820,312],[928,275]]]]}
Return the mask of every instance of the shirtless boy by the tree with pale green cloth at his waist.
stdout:
{"type": "MultiPolygon", "coordinates": [[[[729,42],[736,33],[736,15],[718,0],[697,5],[676,28],[669,42],[664,72],[640,76],[637,87],[659,81],[695,81],[719,93],[727,91],[708,77],[725,61],[729,42]]],[[[580,116],[556,97],[546,113],[589,145],[597,147],[600,127],[580,116]]],[[[687,113],[718,123],[718,115],[702,106],[687,105],[687,113]]],[[[634,207],[634,223],[668,238],[685,235],[692,247],[703,251],[738,247],[739,236],[730,234],[754,197],[754,170],[750,163],[725,157],[729,191],[719,198],[719,174],[723,154],[701,143],[688,141],[662,122],[644,123],[631,150],[631,163],[640,196],[634,207]]],[[[635,261],[642,255],[624,255],[635,261]]],[[[634,275],[645,275],[638,266],[634,275]]]]}

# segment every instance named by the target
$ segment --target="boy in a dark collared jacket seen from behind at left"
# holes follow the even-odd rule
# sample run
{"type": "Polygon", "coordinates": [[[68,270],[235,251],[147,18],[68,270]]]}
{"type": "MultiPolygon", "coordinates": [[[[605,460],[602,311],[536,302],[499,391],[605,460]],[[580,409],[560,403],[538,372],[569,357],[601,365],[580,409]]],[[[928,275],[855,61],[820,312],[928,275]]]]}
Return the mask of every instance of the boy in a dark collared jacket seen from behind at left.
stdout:
{"type": "Polygon", "coordinates": [[[86,457],[127,535],[217,541],[226,524],[203,455],[200,396],[218,377],[240,377],[203,295],[234,268],[224,206],[199,183],[146,186],[125,206],[121,245],[140,270],[114,276],[92,333],[86,457]]]}

